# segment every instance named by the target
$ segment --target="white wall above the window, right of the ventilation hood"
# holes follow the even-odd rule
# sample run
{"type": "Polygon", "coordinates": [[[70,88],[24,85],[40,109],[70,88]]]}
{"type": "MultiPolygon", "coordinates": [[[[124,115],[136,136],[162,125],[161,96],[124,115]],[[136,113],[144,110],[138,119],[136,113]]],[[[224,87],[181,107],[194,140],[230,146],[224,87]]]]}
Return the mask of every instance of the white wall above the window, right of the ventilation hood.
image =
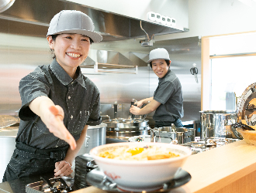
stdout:
{"type": "Polygon", "coordinates": [[[216,36],[254,30],[254,1],[248,6],[238,0],[189,0],[189,32],[155,36],[155,40],[216,36]]]}

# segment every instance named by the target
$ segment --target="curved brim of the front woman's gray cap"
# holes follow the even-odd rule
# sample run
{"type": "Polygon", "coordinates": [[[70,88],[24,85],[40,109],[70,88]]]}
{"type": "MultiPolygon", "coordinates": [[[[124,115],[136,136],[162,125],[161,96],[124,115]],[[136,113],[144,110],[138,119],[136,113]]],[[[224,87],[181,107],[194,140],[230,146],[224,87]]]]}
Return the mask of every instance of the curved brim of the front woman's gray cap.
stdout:
{"type": "Polygon", "coordinates": [[[61,32],[55,32],[53,34],[47,34],[47,36],[62,34],[62,33],[77,33],[77,34],[88,36],[89,38],[91,38],[93,40],[93,42],[102,41],[102,36],[99,33],[88,31],[88,30],[85,30],[85,29],[61,30],[61,32]]]}

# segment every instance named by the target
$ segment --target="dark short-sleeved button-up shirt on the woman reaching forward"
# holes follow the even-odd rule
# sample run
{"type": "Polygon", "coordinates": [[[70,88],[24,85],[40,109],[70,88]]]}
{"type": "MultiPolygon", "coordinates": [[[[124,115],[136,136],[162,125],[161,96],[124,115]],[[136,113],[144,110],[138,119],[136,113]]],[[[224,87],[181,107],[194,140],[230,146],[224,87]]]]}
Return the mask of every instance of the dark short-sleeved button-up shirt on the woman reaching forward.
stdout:
{"type": "Polygon", "coordinates": [[[19,82],[22,107],[19,110],[20,124],[16,141],[39,149],[63,147],[67,142],[50,133],[43,121],[29,108],[36,97],[46,96],[64,110],[64,125],[78,140],[85,125],[101,123],[99,90],[78,66],[78,78],[73,80],[54,61],[38,66],[19,82]]]}

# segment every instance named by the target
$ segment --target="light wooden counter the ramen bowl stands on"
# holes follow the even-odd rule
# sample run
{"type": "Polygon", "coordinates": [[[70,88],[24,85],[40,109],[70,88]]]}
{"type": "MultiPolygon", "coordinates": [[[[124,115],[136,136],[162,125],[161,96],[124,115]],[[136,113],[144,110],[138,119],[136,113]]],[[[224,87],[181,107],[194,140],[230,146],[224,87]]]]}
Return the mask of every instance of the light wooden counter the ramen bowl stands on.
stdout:
{"type": "MultiPolygon", "coordinates": [[[[210,151],[191,155],[184,166],[191,181],[171,193],[256,192],[256,146],[237,141],[210,151]]],[[[84,188],[75,193],[105,193],[99,188],[84,188]]]]}

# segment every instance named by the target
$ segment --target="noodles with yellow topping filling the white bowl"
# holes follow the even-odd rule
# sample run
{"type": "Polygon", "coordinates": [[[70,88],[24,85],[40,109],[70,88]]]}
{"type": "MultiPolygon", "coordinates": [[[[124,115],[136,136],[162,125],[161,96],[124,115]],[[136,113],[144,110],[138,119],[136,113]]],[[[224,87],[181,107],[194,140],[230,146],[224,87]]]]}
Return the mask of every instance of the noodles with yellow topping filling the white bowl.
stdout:
{"type": "Polygon", "coordinates": [[[146,161],[159,160],[171,157],[179,157],[178,154],[171,153],[166,148],[161,147],[118,147],[116,149],[103,151],[99,157],[106,157],[116,160],[126,161],[146,161]]]}

